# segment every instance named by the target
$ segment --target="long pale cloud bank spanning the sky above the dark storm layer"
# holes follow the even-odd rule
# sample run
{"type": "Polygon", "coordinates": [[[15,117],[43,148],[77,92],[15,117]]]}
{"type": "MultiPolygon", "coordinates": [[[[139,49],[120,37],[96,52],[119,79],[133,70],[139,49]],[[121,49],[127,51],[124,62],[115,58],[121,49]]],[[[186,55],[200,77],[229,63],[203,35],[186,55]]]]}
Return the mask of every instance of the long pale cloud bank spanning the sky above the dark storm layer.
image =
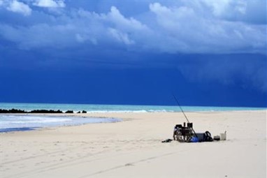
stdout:
{"type": "MultiPolygon", "coordinates": [[[[164,6],[161,3],[147,6],[150,12],[146,17],[127,17],[115,6],[108,13],[72,9],[53,17],[51,22],[37,22],[23,28],[12,25],[10,29],[1,27],[0,35],[25,48],[73,45],[116,47],[113,44],[121,43],[130,50],[138,51],[266,54],[266,25],[225,20],[213,15],[213,11],[207,10],[203,3],[197,3],[198,7],[192,2],[180,3],[179,6],[164,6]],[[207,12],[203,14],[200,6],[207,12]],[[13,37],[8,30],[12,31],[13,37]]],[[[217,10],[217,14],[222,11],[217,10]]],[[[51,17],[48,15],[49,19],[51,17]]]]}

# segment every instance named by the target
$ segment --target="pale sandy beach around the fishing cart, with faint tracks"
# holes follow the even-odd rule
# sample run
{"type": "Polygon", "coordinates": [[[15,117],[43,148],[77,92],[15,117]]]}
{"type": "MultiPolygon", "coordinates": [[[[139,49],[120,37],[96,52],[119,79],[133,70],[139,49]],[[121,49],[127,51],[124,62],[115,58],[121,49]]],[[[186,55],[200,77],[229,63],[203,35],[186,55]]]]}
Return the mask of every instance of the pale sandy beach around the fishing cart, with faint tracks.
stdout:
{"type": "Polygon", "coordinates": [[[123,121],[1,133],[0,177],[266,177],[266,110],[188,112],[197,133],[227,131],[199,143],[161,143],[181,112],[78,115],[123,121]]]}

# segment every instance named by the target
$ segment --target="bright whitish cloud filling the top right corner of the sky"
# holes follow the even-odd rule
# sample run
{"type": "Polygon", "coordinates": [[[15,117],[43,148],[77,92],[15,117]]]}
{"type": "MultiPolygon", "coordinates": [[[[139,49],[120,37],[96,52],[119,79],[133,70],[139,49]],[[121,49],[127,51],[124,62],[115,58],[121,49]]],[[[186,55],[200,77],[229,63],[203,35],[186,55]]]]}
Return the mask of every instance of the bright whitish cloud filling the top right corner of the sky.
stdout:
{"type": "Polygon", "coordinates": [[[267,1],[265,0],[185,1],[184,5],[194,8],[200,16],[206,18],[266,24],[267,1]]]}

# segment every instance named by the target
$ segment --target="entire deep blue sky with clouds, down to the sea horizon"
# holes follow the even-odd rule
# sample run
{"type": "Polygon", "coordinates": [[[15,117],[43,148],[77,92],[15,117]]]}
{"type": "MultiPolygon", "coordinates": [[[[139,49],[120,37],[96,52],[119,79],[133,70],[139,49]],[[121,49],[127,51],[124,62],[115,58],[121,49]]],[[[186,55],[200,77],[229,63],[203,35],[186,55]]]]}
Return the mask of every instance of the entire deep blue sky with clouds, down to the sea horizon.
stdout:
{"type": "Polygon", "coordinates": [[[267,105],[266,1],[0,0],[0,102],[267,105]]]}

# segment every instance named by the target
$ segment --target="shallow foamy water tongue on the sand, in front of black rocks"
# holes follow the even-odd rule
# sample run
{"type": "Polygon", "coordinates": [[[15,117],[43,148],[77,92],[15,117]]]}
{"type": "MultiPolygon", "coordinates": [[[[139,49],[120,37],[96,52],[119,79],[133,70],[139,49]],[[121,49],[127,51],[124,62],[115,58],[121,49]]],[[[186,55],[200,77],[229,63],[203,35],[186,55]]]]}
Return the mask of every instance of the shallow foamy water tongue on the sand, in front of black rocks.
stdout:
{"type": "Polygon", "coordinates": [[[120,122],[122,119],[111,117],[88,117],[79,114],[44,114],[44,113],[17,113],[0,114],[0,133],[36,131],[45,128],[57,128],[64,126],[80,126],[85,124],[102,124],[120,122]],[[5,117],[6,116],[6,117],[5,117]]]}

